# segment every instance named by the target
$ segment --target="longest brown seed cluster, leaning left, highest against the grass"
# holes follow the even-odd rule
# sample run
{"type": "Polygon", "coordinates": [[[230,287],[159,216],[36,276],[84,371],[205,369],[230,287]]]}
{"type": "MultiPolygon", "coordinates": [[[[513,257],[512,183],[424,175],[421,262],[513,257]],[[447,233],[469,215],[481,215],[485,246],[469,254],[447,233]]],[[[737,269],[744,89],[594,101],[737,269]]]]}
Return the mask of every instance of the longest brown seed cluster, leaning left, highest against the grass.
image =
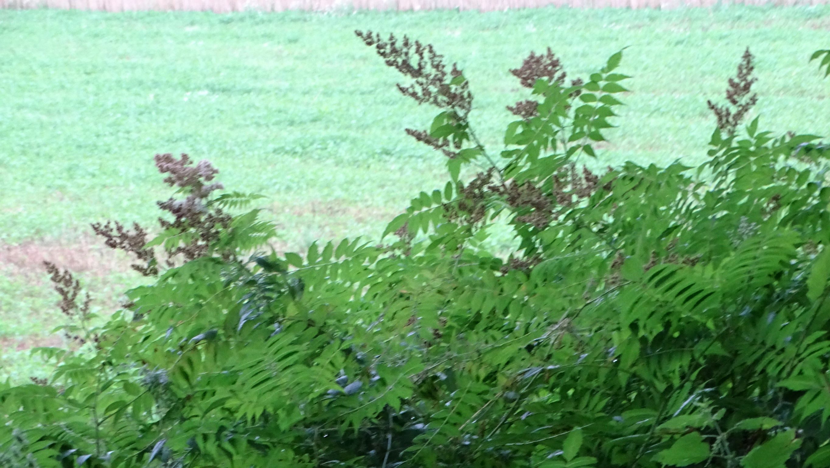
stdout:
{"type": "Polygon", "coordinates": [[[412,97],[419,104],[427,103],[442,109],[455,109],[466,114],[472,107],[469,84],[461,79],[461,71],[455,63],[447,71],[444,57],[435,52],[432,44],[403,40],[390,34],[383,40],[380,34],[371,31],[354,32],[369,47],[375,47],[378,55],[389,67],[400,71],[414,80],[410,86],[398,84],[404,96],[412,97]]]}

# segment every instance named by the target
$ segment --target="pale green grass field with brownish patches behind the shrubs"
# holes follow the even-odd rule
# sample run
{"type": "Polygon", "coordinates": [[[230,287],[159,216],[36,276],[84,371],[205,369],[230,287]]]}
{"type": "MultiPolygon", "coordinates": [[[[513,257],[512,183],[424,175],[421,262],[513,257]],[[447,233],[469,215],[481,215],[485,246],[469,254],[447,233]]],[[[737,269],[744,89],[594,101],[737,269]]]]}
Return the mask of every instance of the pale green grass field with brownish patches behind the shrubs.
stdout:
{"type": "Polygon", "coordinates": [[[434,109],[354,29],[408,34],[456,61],[493,150],[525,90],[510,76],[551,47],[584,76],[628,47],[632,92],[595,165],[700,162],[745,47],[761,127],[827,135],[828,91],[808,57],[830,47],[830,7],[512,12],[100,13],[0,10],[0,378],[40,374],[27,348],[61,346],[41,262],[78,273],[111,310],[139,281],[89,223],[152,224],[171,190],[156,153],[211,160],[228,190],[266,195],[286,249],[377,235],[444,160],[403,130],[434,109]]]}

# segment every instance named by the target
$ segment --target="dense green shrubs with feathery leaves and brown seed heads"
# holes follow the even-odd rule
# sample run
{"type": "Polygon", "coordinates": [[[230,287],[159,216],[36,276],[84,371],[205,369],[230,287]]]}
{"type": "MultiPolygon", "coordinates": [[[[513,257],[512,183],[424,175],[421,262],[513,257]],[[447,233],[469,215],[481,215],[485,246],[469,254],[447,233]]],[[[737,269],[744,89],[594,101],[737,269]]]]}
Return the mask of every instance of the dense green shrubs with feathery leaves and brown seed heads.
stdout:
{"type": "Polygon", "coordinates": [[[95,326],[50,266],[80,349],[42,349],[48,382],[0,387],[2,466],[828,465],[828,167],[817,137],[741,122],[749,52],[710,103],[706,163],[594,175],[577,163],[621,105],[622,52],[573,80],[550,52],[525,59],[530,98],[494,155],[461,71],[361,37],[442,108],[409,133],[447,184],[388,244],[251,254],[274,236],[256,198],[157,156],[183,197],[159,204],[161,234],[95,225],[154,283],[95,326]]]}

